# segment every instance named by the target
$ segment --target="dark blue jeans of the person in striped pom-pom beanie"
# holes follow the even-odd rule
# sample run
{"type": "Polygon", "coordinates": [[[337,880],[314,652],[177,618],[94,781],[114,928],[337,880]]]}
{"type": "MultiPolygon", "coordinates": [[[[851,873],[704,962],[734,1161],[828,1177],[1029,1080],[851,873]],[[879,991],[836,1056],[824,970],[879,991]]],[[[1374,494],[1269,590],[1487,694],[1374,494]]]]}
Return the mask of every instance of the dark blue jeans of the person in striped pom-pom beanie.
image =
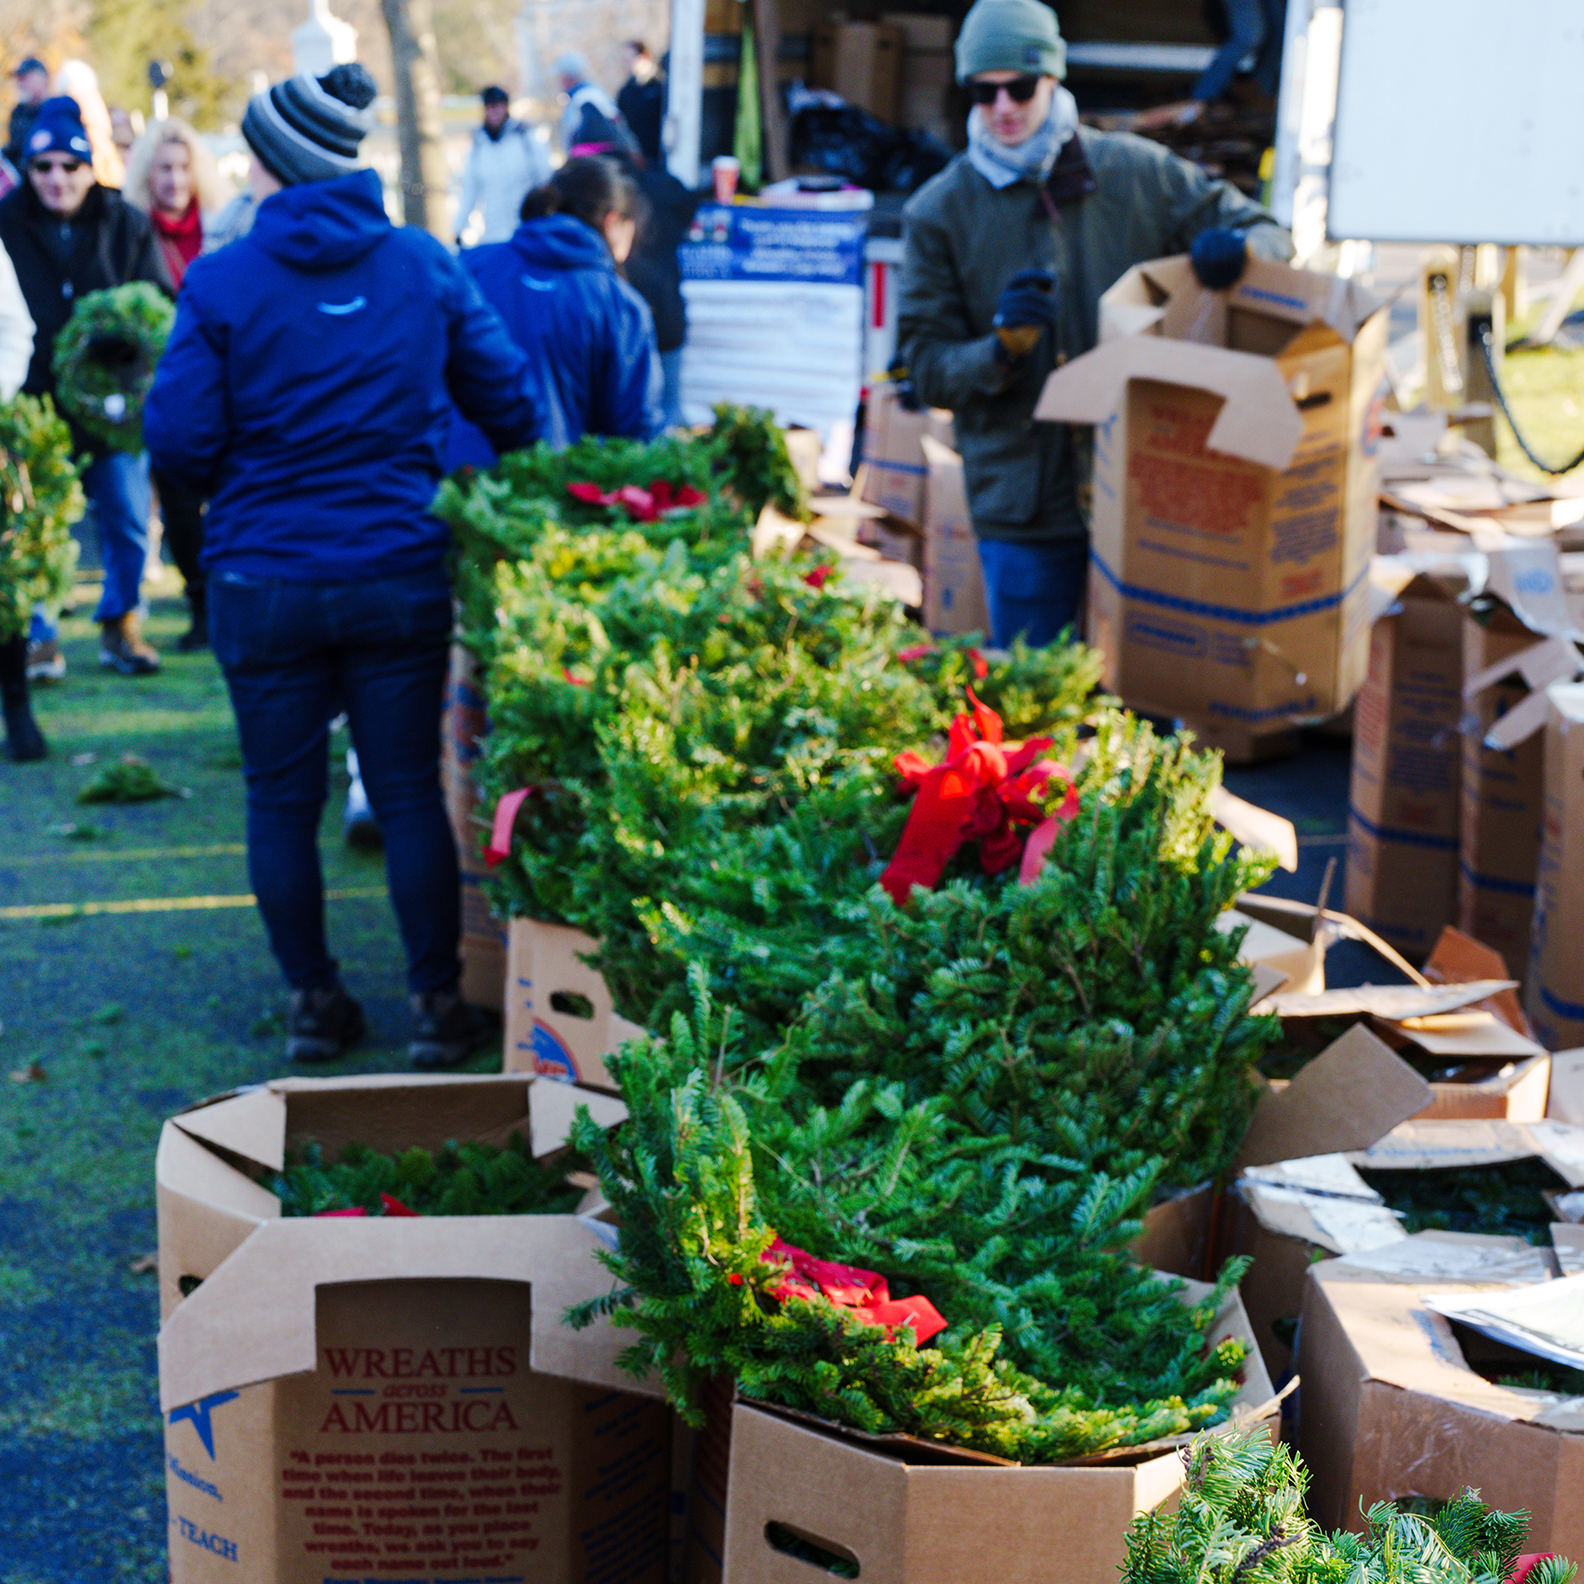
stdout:
{"type": "Polygon", "coordinates": [[[344,708],[385,836],[407,988],[455,990],[461,893],[440,797],[445,573],[280,583],[214,569],[209,634],[242,740],[247,870],[287,984],[336,982],[318,822],[329,794],[328,722],[344,708]]]}

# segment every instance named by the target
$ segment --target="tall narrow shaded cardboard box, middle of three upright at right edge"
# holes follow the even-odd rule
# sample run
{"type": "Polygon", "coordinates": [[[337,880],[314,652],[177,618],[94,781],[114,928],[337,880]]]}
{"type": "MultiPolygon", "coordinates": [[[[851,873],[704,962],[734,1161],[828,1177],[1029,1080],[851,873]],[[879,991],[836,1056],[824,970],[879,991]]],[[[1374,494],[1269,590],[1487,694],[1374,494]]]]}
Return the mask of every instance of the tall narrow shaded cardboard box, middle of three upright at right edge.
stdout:
{"type": "Polygon", "coordinates": [[[1513,661],[1533,643],[1535,634],[1505,605],[1465,618],[1457,927],[1500,952],[1517,976],[1529,971],[1544,737],[1494,748],[1486,735],[1529,695],[1513,661]]]}

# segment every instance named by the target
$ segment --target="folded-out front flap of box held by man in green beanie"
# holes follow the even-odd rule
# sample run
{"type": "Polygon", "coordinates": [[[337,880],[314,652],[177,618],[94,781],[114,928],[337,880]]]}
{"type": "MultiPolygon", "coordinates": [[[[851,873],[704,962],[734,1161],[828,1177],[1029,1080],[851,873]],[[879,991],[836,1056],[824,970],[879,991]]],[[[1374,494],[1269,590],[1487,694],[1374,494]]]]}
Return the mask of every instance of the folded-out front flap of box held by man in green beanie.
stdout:
{"type": "Polygon", "coordinates": [[[1304,417],[1270,358],[1158,336],[1104,342],[1057,369],[1045,380],[1034,418],[1104,423],[1121,406],[1129,380],[1190,385],[1221,396],[1205,439],[1212,451],[1280,470],[1304,437],[1304,417]]]}

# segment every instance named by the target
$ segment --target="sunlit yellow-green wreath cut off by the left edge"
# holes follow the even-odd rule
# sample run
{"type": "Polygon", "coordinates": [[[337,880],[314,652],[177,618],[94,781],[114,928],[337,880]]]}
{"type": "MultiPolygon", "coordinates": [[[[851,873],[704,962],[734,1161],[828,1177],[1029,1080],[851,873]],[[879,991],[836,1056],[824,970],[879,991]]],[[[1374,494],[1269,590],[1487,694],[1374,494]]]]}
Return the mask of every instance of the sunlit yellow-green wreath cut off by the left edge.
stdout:
{"type": "Polygon", "coordinates": [[[27,630],[35,605],[71,591],[82,516],[71,429],[48,396],[0,406],[0,640],[27,630]]]}

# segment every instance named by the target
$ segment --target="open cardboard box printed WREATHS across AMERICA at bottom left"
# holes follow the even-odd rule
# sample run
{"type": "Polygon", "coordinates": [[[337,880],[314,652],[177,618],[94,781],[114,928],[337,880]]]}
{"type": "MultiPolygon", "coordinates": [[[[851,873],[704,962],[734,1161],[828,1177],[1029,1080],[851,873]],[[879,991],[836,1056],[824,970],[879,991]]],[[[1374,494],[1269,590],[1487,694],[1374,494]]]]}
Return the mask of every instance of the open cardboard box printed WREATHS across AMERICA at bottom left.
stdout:
{"type": "Polygon", "coordinates": [[[171,1118],[155,1164],[171,1579],[326,1584],[596,1576],[664,1584],[665,1405],[616,1367],[575,1215],[280,1220],[258,1182],[334,1155],[564,1140],[526,1079],[288,1079],[171,1118]]]}

